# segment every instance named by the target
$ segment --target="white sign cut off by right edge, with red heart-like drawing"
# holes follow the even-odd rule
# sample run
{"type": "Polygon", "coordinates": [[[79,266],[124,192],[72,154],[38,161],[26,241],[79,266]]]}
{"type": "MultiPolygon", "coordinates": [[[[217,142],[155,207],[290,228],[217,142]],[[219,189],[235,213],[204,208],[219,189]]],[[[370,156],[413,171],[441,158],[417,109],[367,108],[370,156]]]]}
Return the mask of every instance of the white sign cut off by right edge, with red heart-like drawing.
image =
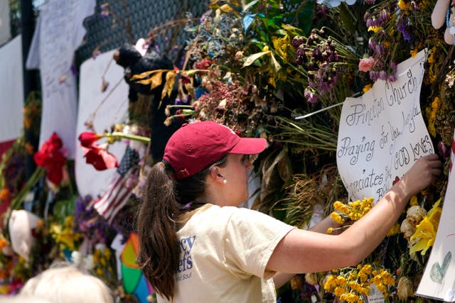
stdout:
{"type": "MultiPolygon", "coordinates": [[[[452,143],[451,160],[454,160],[454,143],[452,143]]],[[[420,280],[417,295],[444,300],[455,301],[455,170],[452,167],[449,173],[444,206],[432,253],[429,255],[427,266],[420,280]]]]}

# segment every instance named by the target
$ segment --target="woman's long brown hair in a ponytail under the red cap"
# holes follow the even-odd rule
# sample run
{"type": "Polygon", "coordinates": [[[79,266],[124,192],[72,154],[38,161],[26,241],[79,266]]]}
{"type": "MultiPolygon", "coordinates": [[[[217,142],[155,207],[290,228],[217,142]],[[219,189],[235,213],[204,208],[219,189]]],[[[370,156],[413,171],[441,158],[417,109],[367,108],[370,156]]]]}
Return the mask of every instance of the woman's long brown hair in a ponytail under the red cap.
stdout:
{"type": "Polygon", "coordinates": [[[138,263],[154,290],[168,300],[176,286],[174,273],[179,250],[176,221],[181,214],[198,208],[205,194],[205,177],[214,165],[224,166],[227,156],[204,170],[181,180],[171,180],[173,170],[164,162],[151,168],[139,210],[138,263]]]}

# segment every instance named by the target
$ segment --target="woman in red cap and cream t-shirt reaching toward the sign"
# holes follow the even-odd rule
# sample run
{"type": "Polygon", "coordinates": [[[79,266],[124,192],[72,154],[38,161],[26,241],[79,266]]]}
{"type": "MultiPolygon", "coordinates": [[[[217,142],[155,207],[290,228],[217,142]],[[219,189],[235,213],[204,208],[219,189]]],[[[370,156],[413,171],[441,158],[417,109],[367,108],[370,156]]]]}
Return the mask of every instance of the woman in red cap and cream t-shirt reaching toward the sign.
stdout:
{"type": "Polygon", "coordinates": [[[151,170],[138,221],[139,264],[159,302],[276,302],[291,274],[355,265],[385,238],[413,194],[441,173],[427,155],[362,219],[337,236],[237,208],[248,199],[245,155],[267,142],[212,121],[180,128],[151,170]],[[289,272],[279,274],[277,272],[289,272]],[[272,280],[273,278],[273,280],[272,280]],[[275,284],[274,284],[275,281],[275,284]]]}

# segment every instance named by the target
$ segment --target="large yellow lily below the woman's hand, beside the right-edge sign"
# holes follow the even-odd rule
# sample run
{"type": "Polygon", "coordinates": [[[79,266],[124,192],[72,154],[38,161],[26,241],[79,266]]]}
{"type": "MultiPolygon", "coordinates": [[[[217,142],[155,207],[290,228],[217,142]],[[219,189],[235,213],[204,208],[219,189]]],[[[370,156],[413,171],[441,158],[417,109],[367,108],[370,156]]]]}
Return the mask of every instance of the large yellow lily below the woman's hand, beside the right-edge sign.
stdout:
{"type": "Polygon", "coordinates": [[[427,216],[416,226],[417,229],[410,238],[410,242],[414,243],[410,249],[411,254],[421,251],[421,254],[424,255],[433,246],[439,225],[439,218],[441,217],[442,209],[439,207],[440,202],[441,199],[434,203],[427,216]]]}

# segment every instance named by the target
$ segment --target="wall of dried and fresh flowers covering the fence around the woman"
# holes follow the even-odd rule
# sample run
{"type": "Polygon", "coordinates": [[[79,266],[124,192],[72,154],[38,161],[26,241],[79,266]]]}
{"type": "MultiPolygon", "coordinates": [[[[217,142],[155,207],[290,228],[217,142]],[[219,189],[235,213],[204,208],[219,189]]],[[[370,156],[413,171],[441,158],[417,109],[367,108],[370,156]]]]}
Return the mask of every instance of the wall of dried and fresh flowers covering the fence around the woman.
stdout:
{"type": "MultiPolygon", "coordinates": [[[[87,125],[87,132],[78,134],[87,165],[124,167],[127,173],[131,195],[113,216],[102,214],[92,197],[79,197],[73,164],[65,159],[58,134],[38,151],[21,138],[4,156],[0,199],[11,202],[10,211],[30,211],[36,224],[29,253],[12,248],[11,226],[4,224],[0,292],[17,292],[28,277],[66,258],[105,280],[122,302],[142,302],[137,285],[119,280],[115,272],[119,263],[137,270],[134,211],[147,167],[159,158],[159,150],[149,152],[157,136],[154,128],[176,129],[185,122],[213,120],[240,136],[267,138],[269,148],[252,159],[261,177],[253,208],[301,228],[318,216],[352,224],[375,201],[349,201],[338,175],[341,103],[365,94],[379,79],[394,82],[397,65],[427,49],[420,106],[435,152],[444,160],[444,174],[412,197],[397,225],[362,263],[296,275],[277,294],[279,302],[365,302],[374,290],[385,302],[432,302],[414,292],[444,204],[455,128],[454,24],[450,7],[441,7],[439,0],[212,0],[203,16],[188,14],[179,21],[188,41],[181,45],[185,52],[177,64],[163,61],[159,68],[145,65],[125,74],[129,121],[105,133],[93,133],[87,125]],[[107,138],[107,145],[97,143],[101,138],[107,138]],[[107,146],[125,140],[135,144],[117,160],[107,146]],[[18,160],[26,154],[38,165],[28,182],[21,181],[18,160]],[[129,248],[120,259],[110,248],[117,235],[129,248]]],[[[99,10],[109,18],[109,3],[99,10]]],[[[151,31],[146,43],[160,53],[154,35],[159,33],[151,31]]],[[[38,128],[38,99],[26,102],[26,129],[38,128]]],[[[137,281],[141,273],[130,275],[137,281]]]]}

